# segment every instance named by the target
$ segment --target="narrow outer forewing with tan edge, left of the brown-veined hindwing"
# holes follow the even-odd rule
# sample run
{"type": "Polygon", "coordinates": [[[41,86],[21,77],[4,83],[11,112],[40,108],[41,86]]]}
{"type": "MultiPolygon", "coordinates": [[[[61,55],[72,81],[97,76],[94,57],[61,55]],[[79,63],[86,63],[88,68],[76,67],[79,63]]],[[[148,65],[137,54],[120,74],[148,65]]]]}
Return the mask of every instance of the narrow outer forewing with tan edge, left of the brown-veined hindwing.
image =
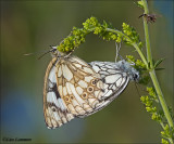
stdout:
{"type": "Polygon", "coordinates": [[[58,92],[54,57],[48,65],[44,84],[44,115],[48,128],[57,128],[74,118],[58,92]]]}

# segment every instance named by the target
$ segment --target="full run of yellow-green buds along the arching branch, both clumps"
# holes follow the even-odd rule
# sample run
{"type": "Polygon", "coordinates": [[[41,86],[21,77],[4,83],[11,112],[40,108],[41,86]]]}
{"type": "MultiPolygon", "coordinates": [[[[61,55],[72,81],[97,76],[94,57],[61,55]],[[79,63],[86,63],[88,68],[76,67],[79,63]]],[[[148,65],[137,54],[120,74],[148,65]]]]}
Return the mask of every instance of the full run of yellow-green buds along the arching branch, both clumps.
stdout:
{"type": "Polygon", "coordinates": [[[123,32],[112,29],[111,24],[108,24],[105,21],[103,23],[99,23],[98,19],[94,16],[87,18],[86,22],[83,23],[83,28],[74,27],[70,36],[67,36],[58,47],[57,49],[60,52],[69,53],[73,51],[75,48],[78,48],[79,44],[85,42],[86,35],[89,32],[94,32],[98,35],[103,40],[107,41],[115,41],[120,43],[122,39],[128,43],[137,43],[139,48],[142,47],[142,43],[139,41],[139,35],[136,30],[129,25],[123,23],[123,32]],[[127,37],[125,37],[127,36],[127,37]]]}

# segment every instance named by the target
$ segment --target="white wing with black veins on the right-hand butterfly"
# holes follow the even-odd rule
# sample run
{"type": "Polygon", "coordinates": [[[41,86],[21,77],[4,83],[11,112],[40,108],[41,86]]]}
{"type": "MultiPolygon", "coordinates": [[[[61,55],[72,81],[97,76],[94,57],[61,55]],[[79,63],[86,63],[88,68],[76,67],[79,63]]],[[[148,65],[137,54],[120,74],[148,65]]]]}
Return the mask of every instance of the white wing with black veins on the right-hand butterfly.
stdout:
{"type": "Polygon", "coordinates": [[[91,62],[89,65],[92,69],[100,74],[104,83],[103,101],[94,110],[100,110],[110,104],[117,95],[120,95],[127,87],[129,77],[115,63],[111,62],[91,62]]]}

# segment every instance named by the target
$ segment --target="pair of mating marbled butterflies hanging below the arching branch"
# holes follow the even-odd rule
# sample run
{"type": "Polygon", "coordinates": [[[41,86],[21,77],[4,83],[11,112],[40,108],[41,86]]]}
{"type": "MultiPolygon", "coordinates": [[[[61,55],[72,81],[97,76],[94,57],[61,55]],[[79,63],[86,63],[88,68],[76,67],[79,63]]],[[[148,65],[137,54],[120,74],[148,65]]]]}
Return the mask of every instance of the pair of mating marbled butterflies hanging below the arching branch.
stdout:
{"type": "Polygon", "coordinates": [[[89,116],[111,103],[139,73],[127,62],[91,62],[60,53],[49,63],[44,86],[44,114],[48,128],[89,116]]]}

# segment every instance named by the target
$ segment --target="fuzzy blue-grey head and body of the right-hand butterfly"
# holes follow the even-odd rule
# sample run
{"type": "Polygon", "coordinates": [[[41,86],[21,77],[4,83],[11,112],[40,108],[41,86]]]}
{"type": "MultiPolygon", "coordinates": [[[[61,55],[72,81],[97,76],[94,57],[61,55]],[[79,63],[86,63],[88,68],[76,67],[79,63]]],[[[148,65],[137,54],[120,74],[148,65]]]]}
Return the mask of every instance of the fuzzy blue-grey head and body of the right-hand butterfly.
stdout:
{"type": "Polygon", "coordinates": [[[128,62],[125,60],[119,61],[116,67],[122,69],[127,74],[130,80],[138,82],[139,81],[139,71],[135,69],[128,62]]]}

